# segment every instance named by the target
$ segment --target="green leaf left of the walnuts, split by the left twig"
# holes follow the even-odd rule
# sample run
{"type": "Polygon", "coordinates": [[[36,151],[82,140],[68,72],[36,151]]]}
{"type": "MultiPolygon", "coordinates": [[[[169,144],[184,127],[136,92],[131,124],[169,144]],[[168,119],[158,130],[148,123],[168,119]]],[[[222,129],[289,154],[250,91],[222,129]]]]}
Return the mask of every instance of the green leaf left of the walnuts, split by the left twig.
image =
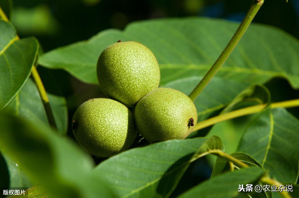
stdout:
{"type": "MultiPolygon", "coordinates": [[[[60,134],[65,134],[68,126],[68,110],[65,98],[47,93],[51,109],[60,134]]],[[[35,83],[28,79],[18,95],[3,109],[3,111],[26,118],[32,123],[49,126],[45,108],[35,83]]]]}

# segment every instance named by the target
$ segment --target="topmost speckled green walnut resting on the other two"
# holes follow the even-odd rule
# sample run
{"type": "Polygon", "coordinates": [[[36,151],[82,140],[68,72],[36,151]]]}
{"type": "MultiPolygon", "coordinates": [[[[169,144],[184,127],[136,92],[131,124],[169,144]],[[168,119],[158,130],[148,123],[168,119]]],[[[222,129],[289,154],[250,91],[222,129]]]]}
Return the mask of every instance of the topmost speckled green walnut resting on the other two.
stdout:
{"type": "Polygon", "coordinates": [[[108,46],[97,61],[102,91],[126,106],[133,106],[159,86],[160,68],[155,55],[144,45],[118,42],[108,46]]]}

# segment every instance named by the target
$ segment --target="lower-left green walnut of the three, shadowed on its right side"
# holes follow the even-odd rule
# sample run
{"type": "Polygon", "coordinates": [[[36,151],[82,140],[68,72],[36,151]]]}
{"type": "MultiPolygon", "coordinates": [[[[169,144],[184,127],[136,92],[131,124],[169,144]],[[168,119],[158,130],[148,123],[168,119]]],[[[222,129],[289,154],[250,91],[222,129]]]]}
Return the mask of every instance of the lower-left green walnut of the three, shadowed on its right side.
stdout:
{"type": "Polygon", "coordinates": [[[72,128],[80,146],[98,157],[129,149],[137,135],[132,112],[107,98],[90,99],[79,106],[72,128]]]}

